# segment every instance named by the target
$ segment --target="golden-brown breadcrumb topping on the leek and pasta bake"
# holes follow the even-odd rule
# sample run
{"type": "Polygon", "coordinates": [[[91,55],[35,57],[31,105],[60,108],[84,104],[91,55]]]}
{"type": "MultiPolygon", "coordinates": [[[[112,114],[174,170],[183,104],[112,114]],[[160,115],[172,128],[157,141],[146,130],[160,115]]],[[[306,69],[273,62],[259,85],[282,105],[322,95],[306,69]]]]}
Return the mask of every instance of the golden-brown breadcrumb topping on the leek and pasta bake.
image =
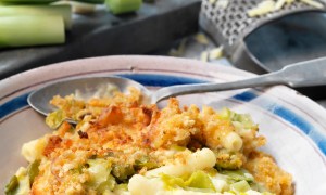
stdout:
{"type": "Polygon", "coordinates": [[[54,96],[51,104],[60,109],[47,122],[59,128],[40,139],[45,146],[34,157],[40,165],[30,194],[104,193],[135,174],[188,165],[189,155],[202,148],[213,152],[216,170],[247,168],[269,192],[293,194],[290,174],[256,151],[265,138],[247,115],[208,106],[181,108],[177,99],[158,108],[142,105],[141,99],[134,88],[128,94],[88,101],[54,96]],[[61,122],[64,118],[78,123],[61,122]]]}

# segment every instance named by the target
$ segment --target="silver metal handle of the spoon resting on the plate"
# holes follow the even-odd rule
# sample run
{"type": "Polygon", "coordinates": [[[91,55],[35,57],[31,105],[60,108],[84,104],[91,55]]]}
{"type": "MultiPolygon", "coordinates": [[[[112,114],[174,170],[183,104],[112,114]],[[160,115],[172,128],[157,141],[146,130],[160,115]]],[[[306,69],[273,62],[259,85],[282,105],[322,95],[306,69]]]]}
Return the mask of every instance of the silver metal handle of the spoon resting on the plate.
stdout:
{"type": "Polygon", "coordinates": [[[170,96],[181,94],[225,91],[234,89],[287,84],[290,87],[306,87],[326,84],[326,57],[288,65],[283,69],[249,79],[231,82],[208,82],[197,84],[172,86],[158,90],[152,94],[152,103],[170,96]]]}

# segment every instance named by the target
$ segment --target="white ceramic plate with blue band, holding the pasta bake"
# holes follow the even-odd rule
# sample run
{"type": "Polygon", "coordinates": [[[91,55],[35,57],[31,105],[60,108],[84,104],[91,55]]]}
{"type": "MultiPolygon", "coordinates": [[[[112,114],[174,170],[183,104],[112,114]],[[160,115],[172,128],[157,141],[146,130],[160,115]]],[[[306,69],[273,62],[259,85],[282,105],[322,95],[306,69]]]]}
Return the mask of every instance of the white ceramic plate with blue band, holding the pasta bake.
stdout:
{"type": "MultiPolygon", "coordinates": [[[[23,143],[50,132],[43,117],[26,102],[47,82],[67,77],[122,75],[152,89],[176,83],[230,81],[253,76],[235,68],[162,56],[109,56],[43,66],[0,82],[0,188],[20,166],[23,143]]],[[[249,113],[267,138],[263,151],[293,176],[296,194],[326,194],[326,112],[310,99],[284,87],[180,96],[183,104],[230,107],[249,113]]]]}

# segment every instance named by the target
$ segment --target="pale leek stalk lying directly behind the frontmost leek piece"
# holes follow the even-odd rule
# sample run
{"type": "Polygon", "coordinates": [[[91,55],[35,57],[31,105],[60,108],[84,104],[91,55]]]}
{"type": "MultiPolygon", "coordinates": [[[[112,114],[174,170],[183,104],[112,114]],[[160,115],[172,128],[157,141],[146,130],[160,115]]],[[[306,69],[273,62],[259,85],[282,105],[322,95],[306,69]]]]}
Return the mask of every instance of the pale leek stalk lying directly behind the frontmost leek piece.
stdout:
{"type": "MultiPolygon", "coordinates": [[[[64,21],[66,29],[72,27],[72,8],[68,4],[61,5],[5,5],[0,6],[0,17],[2,16],[27,16],[27,15],[60,15],[64,21]]],[[[17,25],[18,26],[18,25],[17,25]]]]}

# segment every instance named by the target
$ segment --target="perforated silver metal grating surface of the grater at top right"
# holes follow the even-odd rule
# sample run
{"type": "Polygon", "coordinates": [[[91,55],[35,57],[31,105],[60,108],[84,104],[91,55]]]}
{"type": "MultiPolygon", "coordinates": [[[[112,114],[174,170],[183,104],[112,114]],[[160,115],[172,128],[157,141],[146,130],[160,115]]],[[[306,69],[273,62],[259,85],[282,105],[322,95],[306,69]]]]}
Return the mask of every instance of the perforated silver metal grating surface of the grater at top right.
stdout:
{"type": "Polygon", "coordinates": [[[298,1],[296,3],[285,4],[279,11],[263,16],[249,17],[247,12],[258,6],[262,0],[228,0],[226,8],[218,6],[217,1],[202,1],[200,24],[215,41],[225,47],[227,52],[231,52],[233,48],[235,48],[246,35],[268,21],[291,13],[317,10],[314,6],[298,1]]]}

